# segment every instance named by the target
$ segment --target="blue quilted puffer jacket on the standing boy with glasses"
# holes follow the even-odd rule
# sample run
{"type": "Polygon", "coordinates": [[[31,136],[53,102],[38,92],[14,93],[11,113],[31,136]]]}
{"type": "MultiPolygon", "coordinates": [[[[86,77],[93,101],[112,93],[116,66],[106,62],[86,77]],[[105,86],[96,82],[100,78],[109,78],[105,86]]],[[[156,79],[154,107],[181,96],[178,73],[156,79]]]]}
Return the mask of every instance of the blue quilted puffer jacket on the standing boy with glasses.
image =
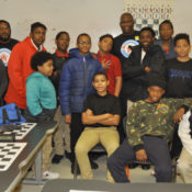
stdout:
{"type": "Polygon", "coordinates": [[[92,78],[97,71],[102,71],[99,60],[89,53],[86,56],[79,50],[70,55],[60,77],[59,101],[61,114],[81,113],[84,99],[93,93],[92,78]]]}

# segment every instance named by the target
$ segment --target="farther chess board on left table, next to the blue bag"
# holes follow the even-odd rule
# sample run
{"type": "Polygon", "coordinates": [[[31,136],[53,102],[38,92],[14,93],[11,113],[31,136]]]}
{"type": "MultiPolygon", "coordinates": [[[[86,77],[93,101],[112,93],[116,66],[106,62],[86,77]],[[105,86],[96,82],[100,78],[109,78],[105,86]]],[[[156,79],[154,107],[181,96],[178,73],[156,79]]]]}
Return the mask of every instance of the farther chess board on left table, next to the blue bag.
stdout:
{"type": "Polygon", "coordinates": [[[22,123],[19,125],[18,128],[14,128],[12,131],[3,132],[3,135],[9,135],[11,133],[15,134],[15,140],[23,139],[32,128],[36,126],[36,123],[22,123]]]}

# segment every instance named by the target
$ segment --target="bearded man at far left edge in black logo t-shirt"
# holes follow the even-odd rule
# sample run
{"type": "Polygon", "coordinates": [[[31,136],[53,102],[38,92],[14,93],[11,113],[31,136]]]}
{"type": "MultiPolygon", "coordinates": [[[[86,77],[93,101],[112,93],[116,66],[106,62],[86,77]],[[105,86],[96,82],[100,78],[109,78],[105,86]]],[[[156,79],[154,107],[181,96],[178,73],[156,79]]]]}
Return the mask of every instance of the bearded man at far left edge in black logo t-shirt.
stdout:
{"type": "Polygon", "coordinates": [[[8,66],[8,61],[11,55],[11,50],[19,41],[11,38],[11,26],[8,21],[0,20],[0,59],[4,66],[8,66]]]}

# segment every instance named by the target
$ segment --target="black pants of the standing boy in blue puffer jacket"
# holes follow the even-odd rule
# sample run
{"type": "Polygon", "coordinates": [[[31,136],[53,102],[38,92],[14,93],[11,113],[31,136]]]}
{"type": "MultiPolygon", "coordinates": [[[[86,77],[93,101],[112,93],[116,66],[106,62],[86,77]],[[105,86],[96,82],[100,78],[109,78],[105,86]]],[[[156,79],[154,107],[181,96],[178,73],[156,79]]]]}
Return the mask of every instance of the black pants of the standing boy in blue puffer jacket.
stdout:
{"type": "Polygon", "coordinates": [[[81,113],[71,114],[70,124],[70,149],[71,149],[71,162],[75,161],[75,146],[76,143],[83,131],[83,124],[81,121],[81,113]]]}

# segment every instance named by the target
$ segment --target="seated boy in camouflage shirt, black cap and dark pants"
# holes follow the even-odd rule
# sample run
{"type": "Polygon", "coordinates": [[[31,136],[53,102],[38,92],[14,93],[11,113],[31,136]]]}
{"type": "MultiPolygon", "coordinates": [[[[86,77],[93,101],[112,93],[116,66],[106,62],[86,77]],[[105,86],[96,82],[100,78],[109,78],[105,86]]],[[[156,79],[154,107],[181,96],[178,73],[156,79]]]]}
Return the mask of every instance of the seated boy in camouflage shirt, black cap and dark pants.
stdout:
{"type": "Polygon", "coordinates": [[[172,138],[173,123],[179,122],[184,114],[185,105],[181,104],[189,104],[191,100],[161,99],[165,89],[163,80],[151,77],[148,98],[135,102],[128,111],[127,138],[108,160],[116,182],[129,182],[125,166],[134,160],[149,160],[155,166],[157,182],[171,181],[168,143],[172,138]]]}

